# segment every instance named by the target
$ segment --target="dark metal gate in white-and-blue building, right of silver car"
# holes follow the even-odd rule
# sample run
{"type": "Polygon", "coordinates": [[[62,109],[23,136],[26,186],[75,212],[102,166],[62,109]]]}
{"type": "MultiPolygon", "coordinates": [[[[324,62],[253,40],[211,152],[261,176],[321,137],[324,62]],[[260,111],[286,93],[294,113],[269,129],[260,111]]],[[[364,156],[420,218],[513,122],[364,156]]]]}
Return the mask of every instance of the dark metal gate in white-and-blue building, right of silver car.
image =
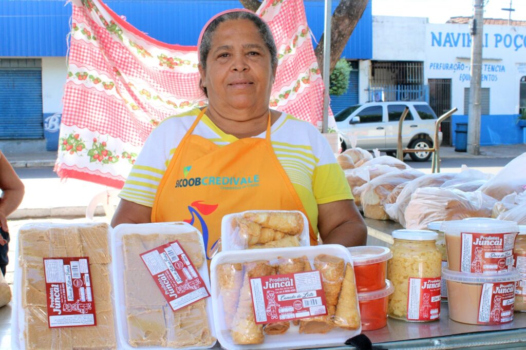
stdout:
{"type": "MultiPolygon", "coordinates": [[[[428,79],[429,106],[437,116],[451,110],[451,79],[428,79]]],[[[442,129],[442,145],[451,146],[451,118],[440,124],[442,129]]]]}

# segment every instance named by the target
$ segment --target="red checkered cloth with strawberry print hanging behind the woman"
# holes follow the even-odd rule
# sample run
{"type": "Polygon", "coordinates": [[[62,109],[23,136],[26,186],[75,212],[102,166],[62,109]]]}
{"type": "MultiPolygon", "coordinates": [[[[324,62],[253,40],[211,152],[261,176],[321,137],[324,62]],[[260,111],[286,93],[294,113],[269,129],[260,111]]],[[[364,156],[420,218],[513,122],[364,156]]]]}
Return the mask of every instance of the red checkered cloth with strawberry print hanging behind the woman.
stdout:
{"type": "MultiPolygon", "coordinates": [[[[204,106],[197,47],[148,37],[102,1],[73,0],[68,78],[55,171],[122,188],[158,123],[204,106]]],[[[323,81],[301,0],[266,0],[257,12],[278,48],[270,106],[319,125],[323,81]]]]}

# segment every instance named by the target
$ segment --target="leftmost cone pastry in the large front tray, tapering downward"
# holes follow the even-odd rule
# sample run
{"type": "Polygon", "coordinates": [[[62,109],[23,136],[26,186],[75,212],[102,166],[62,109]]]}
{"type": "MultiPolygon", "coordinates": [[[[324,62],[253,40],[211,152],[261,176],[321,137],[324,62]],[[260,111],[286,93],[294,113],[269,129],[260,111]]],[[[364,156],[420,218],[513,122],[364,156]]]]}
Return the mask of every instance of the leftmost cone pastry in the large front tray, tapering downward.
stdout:
{"type": "Polygon", "coordinates": [[[243,283],[243,265],[225,263],[217,266],[217,280],[225,312],[225,324],[229,330],[237,311],[239,291],[243,283]]]}

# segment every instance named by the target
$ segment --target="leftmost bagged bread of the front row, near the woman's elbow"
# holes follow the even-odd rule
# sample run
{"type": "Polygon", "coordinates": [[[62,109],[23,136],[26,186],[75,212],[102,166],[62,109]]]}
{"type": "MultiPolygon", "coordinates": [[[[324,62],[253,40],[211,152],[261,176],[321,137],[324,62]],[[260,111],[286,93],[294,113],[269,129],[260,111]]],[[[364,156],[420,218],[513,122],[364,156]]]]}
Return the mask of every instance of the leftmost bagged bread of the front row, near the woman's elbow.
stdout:
{"type": "Polygon", "coordinates": [[[401,172],[390,172],[372,179],[360,187],[363,216],[370,219],[388,220],[389,215],[383,209],[388,195],[400,183],[408,182],[423,176],[423,172],[407,169],[401,172]]]}

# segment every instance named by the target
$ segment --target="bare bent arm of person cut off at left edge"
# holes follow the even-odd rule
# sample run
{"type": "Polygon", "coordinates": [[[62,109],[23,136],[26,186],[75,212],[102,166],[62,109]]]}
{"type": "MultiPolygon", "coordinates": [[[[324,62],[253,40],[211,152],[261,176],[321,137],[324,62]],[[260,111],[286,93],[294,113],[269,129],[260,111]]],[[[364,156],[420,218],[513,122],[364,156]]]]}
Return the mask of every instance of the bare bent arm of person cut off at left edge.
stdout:
{"type": "Polygon", "coordinates": [[[2,230],[8,232],[7,216],[14,212],[24,198],[24,184],[18,178],[15,170],[0,153],[0,225],[2,230]]]}

